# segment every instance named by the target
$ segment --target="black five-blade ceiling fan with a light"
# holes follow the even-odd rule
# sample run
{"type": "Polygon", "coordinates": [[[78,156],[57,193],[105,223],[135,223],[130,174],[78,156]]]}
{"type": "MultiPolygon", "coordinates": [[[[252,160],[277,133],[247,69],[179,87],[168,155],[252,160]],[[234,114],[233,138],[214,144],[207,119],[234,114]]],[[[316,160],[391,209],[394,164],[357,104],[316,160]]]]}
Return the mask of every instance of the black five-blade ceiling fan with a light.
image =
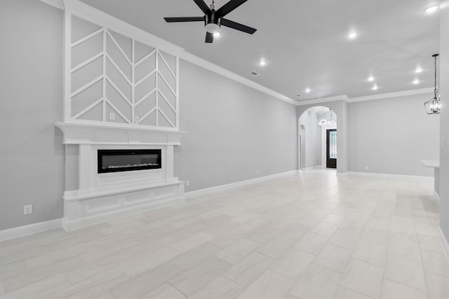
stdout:
{"type": "Polygon", "coordinates": [[[203,17],[179,17],[179,18],[164,18],[166,22],[204,22],[206,28],[206,43],[212,43],[214,36],[220,36],[220,27],[226,26],[232,29],[253,34],[257,29],[242,25],[232,20],[227,20],[223,17],[228,13],[234,11],[248,0],[230,0],[224,6],[215,11],[215,0],[212,0],[210,7],[203,0],[193,0],[197,6],[203,11],[203,17]]]}

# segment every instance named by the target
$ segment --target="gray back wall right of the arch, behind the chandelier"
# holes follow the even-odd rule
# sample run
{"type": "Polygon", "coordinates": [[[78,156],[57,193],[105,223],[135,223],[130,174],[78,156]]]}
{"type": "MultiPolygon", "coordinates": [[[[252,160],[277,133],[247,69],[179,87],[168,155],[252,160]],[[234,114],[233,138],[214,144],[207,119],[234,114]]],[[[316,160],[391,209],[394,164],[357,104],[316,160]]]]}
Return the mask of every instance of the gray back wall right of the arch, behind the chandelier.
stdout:
{"type": "Polygon", "coordinates": [[[438,160],[439,116],[428,116],[423,106],[431,97],[349,103],[349,171],[433,176],[419,161],[438,160]]]}

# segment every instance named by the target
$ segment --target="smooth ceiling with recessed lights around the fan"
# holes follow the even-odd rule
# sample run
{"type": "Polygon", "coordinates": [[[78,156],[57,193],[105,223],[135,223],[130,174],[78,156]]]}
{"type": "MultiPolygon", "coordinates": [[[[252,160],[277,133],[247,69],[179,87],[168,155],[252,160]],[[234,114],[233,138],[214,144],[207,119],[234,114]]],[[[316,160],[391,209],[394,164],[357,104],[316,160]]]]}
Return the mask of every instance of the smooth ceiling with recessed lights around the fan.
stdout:
{"type": "MultiPolygon", "coordinates": [[[[439,20],[438,13],[427,15],[424,9],[438,0],[249,0],[227,18],[257,32],[223,27],[212,44],[204,43],[201,22],[163,20],[203,15],[192,0],[82,1],[292,99],[360,97],[434,85],[431,55],[438,53],[439,20]],[[347,39],[351,30],[358,32],[357,39],[347,39]],[[265,67],[257,64],[261,58],[268,62],[265,67]],[[421,74],[415,74],[417,66],[424,69],[421,74]],[[367,81],[371,74],[376,91],[367,81]],[[421,81],[417,85],[415,78],[421,81]]],[[[215,0],[215,6],[226,2],[215,0]]]]}

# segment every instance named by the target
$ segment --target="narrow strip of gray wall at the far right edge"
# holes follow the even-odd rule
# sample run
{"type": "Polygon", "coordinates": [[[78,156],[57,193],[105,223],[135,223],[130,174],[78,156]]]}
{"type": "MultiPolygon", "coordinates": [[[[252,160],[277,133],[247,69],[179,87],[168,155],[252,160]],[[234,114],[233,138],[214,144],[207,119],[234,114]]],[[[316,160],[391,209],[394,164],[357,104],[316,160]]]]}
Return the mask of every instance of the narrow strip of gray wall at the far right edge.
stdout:
{"type": "MultiPolygon", "coordinates": [[[[440,227],[449,242],[449,0],[441,0],[440,11],[440,227]],[[444,139],[444,143],[442,142],[444,139]]],[[[448,252],[449,254],[449,252],[448,252]]]]}

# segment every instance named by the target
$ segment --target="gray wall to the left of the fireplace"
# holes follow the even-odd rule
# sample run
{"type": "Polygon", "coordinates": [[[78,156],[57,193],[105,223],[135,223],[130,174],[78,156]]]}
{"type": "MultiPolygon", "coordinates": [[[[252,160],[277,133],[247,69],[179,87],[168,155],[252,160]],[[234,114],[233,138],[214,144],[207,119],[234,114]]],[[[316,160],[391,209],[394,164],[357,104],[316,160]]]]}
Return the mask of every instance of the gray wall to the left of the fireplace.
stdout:
{"type": "Polygon", "coordinates": [[[62,216],[62,11],[0,2],[0,230],[62,216]],[[24,216],[24,204],[33,214],[24,216]]]}

